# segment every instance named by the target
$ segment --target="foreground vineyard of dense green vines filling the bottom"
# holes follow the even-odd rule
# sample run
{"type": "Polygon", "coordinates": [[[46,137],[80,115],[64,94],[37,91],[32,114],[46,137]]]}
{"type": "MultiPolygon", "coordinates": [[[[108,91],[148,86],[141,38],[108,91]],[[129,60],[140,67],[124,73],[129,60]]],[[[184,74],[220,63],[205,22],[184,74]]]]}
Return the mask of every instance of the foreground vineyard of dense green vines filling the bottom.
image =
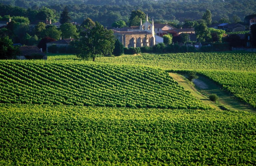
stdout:
{"type": "Polygon", "coordinates": [[[255,165],[256,116],[0,104],[0,165],[255,165]]]}

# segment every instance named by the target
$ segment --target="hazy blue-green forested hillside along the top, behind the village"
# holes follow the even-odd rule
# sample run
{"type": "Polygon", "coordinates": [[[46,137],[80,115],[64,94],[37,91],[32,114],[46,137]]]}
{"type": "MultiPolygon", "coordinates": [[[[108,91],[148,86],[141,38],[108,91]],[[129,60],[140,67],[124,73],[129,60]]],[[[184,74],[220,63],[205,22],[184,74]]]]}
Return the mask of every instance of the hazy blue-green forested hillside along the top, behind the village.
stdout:
{"type": "Polygon", "coordinates": [[[230,23],[243,22],[244,17],[256,14],[255,0],[0,0],[0,15],[24,16],[30,21],[48,17],[53,22],[59,21],[59,15],[67,6],[72,21],[82,23],[91,18],[104,26],[111,26],[115,21],[129,21],[133,10],[142,10],[155,23],[168,22],[172,25],[182,24],[187,20],[202,18],[206,9],[212,14],[212,21],[225,18],[230,23]],[[50,9],[50,14],[38,14],[39,11],[50,9]]]}

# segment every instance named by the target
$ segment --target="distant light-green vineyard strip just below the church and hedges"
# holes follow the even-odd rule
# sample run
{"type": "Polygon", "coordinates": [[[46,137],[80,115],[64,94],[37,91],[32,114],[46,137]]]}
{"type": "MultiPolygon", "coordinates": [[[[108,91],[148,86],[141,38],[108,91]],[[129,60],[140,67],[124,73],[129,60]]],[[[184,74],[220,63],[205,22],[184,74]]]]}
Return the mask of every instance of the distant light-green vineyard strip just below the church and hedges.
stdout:
{"type": "Polygon", "coordinates": [[[141,54],[99,57],[96,61],[110,64],[146,65],[166,70],[256,71],[256,53],[242,52],[141,54]]]}

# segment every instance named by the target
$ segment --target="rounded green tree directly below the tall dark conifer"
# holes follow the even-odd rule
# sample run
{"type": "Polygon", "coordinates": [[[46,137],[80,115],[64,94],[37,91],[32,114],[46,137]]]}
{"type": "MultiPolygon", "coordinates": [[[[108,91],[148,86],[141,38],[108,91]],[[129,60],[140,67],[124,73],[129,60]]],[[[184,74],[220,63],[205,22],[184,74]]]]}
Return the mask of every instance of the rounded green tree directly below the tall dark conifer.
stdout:
{"type": "Polygon", "coordinates": [[[77,33],[77,29],[76,26],[73,25],[72,23],[64,23],[60,25],[60,30],[62,32],[62,37],[64,39],[66,38],[77,38],[78,37],[78,33],[77,33]]]}

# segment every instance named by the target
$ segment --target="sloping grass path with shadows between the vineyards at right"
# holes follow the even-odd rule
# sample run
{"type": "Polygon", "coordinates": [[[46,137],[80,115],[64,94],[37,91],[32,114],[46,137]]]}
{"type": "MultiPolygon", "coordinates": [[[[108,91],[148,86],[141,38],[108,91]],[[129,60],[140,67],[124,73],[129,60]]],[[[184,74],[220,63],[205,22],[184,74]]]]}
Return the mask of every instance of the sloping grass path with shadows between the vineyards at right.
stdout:
{"type": "Polygon", "coordinates": [[[179,85],[183,86],[185,90],[190,91],[194,96],[198,99],[202,100],[205,104],[209,104],[211,107],[216,110],[221,110],[220,107],[224,106],[228,110],[236,110],[236,111],[248,111],[248,112],[256,112],[253,108],[249,107],[241,103],[239,100],[236,100],[234,97],[230,96],[227,92],[221,90],[221,86],[212,82],[211,80],[200,76],[193,83],[195,87],[186,81],[183,76],[169,73],[169,75],[179,83],[179,85]],[[219,97],[218,103],[211,102],[207,96],[215,93],[219,97]]]}

